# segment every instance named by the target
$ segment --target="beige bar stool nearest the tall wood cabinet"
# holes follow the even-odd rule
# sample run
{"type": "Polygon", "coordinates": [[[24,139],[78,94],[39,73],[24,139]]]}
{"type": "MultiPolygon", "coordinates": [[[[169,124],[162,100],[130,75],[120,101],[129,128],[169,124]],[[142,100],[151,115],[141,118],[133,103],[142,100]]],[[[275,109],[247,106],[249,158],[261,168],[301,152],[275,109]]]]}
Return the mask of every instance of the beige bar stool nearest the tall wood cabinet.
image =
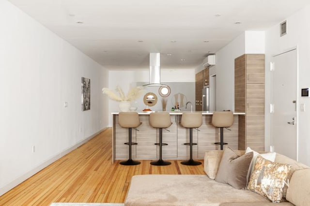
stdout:
{"type": "Polygon", "coordinates": [[[233,125],[233,112],[230,111],[214,112],[212,116],[212,124],[213,126],[220,128],[221,132],[220,142],[216,142],[214,144],[220,145],[221,150],[223,150],[223,145],[227,145],[227,143],[224,143],[223,128],[231,127],[233,125]]]}

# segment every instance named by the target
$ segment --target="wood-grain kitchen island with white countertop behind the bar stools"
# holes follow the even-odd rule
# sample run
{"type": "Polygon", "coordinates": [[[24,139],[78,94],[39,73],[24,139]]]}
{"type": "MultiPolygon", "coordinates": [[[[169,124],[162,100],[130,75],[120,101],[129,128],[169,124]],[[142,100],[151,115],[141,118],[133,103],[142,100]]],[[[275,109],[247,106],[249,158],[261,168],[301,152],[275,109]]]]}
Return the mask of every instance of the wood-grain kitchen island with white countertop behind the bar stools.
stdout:
{"type": "MultiPolygon", "coordinates": [[[[182,112],[169,112],[172,125],[163,129],[163,159],[165,160],[187,160],[189,158],[189,146],[184,143],[189,142],[189,130],[182,127],[182,112]]],[[[142,124],[137,130],[132,130],[132,158],[136,160],[156,160],[159,158],[159,147],[155,143],[159,142],[159,129],[155,129],[149,124],[150,112],[138,112],[142,124]]],[[[118,112],[113,115],[112,130],[112,162],[115,160],[128,159],[128,129],[120,127],[118,124],[118,112]]],[[[218,149],[215,142],[219,142],[219,129],[211,124],[213,112],[202,112],[202,126],[198,130],[193,130],[193,159],[203,159],[206,150],[218,149]]],[[[245,113],[233,113],[233,126],[224,129],[224,142],[233,149],[238,149],[238,119],[239,115],[245,113]]]]}

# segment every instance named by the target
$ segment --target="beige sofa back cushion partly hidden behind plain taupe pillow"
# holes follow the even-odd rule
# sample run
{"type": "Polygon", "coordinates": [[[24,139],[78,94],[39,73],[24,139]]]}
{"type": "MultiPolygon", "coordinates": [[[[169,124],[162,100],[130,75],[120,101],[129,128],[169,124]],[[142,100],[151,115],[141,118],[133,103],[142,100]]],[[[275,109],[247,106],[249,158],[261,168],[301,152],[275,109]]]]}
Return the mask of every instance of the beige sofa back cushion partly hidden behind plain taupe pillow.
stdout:
{"type": "MultiPolygon", "coordinates": [[[[243,155],[245,151],[234,150],[238,155],[243,155]]],[[[218,166],[221,162],[224,150],[208,150],[204,154],[204,172],[210,179],[217,176],[218,166]]]]}

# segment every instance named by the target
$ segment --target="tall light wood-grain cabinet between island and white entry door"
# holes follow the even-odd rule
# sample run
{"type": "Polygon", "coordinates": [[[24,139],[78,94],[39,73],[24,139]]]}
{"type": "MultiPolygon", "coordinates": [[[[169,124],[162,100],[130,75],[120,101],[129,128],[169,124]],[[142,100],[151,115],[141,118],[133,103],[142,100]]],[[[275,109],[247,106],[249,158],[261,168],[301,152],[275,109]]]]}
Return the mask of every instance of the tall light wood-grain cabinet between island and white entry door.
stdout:
{"type": "Polygon", "coordinates": [[[264,151],[264,54],[244,54],[234,61],[234,105],[239,116],[239,149],[264,151]]]}

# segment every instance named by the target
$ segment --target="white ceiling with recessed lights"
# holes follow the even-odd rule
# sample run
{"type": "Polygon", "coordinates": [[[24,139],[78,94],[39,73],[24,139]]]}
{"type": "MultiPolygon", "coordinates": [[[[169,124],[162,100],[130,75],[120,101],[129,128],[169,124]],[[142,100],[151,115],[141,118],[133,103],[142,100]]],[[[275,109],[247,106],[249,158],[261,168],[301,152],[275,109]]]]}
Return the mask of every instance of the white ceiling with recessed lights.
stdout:
{"type": "Polygon", "coordinates": [[[243,31],[265,30],[310,3],[309,0],[9,1],[109,70],[148,69],[150,52],[161,53],[161,68],[196,68],[208,54],[217,52],[243,31]]]}

